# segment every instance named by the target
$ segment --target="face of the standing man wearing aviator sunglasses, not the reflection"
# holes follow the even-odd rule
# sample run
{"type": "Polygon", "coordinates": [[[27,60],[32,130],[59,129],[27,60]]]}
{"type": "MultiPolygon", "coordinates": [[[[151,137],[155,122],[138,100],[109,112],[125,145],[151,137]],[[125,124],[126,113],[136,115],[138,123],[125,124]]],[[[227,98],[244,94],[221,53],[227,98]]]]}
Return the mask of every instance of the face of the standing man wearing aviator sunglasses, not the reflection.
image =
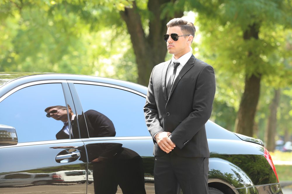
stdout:
{"type": "Polygon", "coordinates": [[[169,36],[166,43],[168,52],[170,54],[173,54],[175,59],[180,58],[181,56],[183,56],[184,54],[190,51],[190,47],[189,47],[190,41],[188,41],[190,40],[190,38],[189,36],[181,36],[181,35],[188,35],[188,34],[183,34],[179,26],[169,27],[166,33],[169,35],[172,33],[176,33],[180,36],[178,37],[177,41],[174,41],[171,38],[171,36],[169,36]]]}

